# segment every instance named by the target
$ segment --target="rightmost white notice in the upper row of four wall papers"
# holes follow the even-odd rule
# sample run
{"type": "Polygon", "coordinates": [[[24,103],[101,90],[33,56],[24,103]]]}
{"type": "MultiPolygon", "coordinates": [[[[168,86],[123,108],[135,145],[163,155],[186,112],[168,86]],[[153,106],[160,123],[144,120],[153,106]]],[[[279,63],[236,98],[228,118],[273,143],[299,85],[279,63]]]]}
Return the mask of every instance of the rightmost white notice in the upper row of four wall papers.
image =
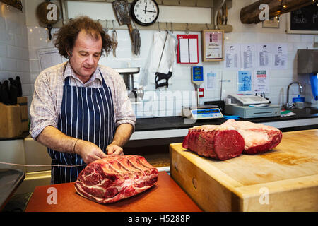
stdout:
{"type": "Polygon", "coordinates": [[[273,44],[272,69],[287,69],[287,44],[273,44]]]}

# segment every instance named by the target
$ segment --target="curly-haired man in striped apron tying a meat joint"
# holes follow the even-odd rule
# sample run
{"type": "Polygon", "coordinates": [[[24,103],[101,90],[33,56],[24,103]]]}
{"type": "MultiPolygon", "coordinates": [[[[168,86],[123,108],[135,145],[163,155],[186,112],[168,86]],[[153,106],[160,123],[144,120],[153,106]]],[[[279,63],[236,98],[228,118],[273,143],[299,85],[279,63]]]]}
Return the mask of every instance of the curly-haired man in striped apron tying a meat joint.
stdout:
{"type": "Polygon", "coordinates": [[[52,184],[74,182],[85,165],[124,155],[136,117],[122,77],[98,64],[112,49],[100,23],[70,20],[55,34],[68,61],[42,71],[30,107],[30,134],[52,158],[52,184]]]}

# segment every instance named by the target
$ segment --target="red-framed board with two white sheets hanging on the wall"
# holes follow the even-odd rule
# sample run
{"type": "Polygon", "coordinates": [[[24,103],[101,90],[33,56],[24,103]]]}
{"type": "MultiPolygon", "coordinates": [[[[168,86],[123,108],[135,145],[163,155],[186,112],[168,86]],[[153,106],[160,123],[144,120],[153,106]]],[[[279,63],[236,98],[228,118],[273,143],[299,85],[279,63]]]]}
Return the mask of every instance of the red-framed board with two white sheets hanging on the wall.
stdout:
{"type": "Polygon", "coordinates": [[[198,64],[199,63],[199,35],[177,35],[177,63],[198,64]]]}

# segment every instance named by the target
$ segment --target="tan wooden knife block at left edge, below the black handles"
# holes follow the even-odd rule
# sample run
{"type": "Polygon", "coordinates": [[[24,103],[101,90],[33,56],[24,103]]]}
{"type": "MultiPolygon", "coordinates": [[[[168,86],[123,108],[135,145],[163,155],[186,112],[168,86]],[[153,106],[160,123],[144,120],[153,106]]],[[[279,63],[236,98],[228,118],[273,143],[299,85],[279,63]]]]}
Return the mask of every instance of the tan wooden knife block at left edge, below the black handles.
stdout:
{"type": "Polygon", "coordinates": [[[13,138],[22,133],[20,115],[20,105],[4,105],[0,102],[0,138],[13,138]]]}

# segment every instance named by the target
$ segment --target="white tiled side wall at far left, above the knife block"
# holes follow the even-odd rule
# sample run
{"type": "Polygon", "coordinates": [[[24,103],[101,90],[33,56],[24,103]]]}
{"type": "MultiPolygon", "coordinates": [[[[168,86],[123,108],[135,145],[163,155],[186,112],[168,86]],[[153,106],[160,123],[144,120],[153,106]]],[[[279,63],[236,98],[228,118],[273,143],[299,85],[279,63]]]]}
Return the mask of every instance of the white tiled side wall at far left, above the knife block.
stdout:
{"type": "MultiPolygon", "coordinates": [[[[25,1],[22,1],[25,4],[25,1]]],[[[25,12],[0,3],[0,81],[20,76],[23,95],[32,100],[25,12]]]]}

